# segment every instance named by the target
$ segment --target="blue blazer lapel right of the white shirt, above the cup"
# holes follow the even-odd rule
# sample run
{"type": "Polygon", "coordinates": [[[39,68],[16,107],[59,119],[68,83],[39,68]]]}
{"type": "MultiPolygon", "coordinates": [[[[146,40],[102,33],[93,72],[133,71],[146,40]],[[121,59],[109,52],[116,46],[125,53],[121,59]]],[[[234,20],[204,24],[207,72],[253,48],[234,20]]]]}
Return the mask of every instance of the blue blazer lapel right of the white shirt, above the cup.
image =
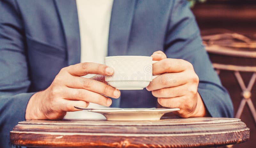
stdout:
{"type": "Polygon", "coordinates": [[[108,56],[126,55],[135,0],[114,0],[108,35],[108,56]]]}

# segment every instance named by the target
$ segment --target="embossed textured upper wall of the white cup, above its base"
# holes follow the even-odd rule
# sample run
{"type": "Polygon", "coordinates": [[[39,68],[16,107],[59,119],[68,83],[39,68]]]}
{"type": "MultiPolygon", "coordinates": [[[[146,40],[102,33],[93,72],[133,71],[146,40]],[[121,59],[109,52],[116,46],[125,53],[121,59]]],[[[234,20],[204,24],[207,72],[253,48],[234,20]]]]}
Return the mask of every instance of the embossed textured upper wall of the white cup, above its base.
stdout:
{"type": "Polygon", "coordinates": [[[106,57],[105,64],[114,69],[114,74],[106,76],[106,81],[152,81],[152,57],[106,57]]]}

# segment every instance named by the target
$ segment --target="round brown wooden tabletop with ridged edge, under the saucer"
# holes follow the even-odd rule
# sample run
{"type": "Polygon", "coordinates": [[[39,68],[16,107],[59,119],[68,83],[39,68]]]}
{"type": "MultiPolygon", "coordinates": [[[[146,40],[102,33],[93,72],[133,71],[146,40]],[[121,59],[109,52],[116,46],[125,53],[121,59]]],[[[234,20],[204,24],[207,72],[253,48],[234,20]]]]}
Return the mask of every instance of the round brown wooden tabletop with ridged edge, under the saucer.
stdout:
{"type": "Polygon", "coordinates": [[[13,145],[83,148],[188,148],[238,144],[250,130],[235,118],[157,121],[22,121],[10,132],[13,145]]]}

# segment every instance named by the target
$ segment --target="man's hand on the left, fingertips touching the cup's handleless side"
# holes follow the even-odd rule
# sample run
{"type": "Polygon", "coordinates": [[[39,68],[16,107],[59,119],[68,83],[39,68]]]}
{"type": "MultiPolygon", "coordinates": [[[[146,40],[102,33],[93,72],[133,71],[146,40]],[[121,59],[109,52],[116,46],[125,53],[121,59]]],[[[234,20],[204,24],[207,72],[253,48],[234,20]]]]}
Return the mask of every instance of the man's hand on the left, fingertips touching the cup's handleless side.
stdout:
{"type": "Polygon", "coordinates": [[[81,76],[113,73],[111,67],[96,63],[79,63],[62,68],[47,89],[32,95],[26,109],[26,120],[59,120],[67,111],[79,110],[74,106],[87,107],[89,102],[110,106],[112,101],[108,97],[118,98],[120,91],[104,82],[81,76]]]}

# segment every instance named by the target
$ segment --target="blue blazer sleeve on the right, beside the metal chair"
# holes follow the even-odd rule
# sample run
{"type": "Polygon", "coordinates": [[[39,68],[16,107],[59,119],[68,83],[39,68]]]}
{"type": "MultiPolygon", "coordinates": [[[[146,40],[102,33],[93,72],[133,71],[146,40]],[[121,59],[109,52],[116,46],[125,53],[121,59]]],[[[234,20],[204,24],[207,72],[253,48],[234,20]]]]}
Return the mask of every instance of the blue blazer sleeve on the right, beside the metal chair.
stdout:
{"type": "Polygon", "coordinates": [[[212,67],[188,2],[172,2],[164,45],[167,58],[184,59],[193,64],[199,77],[198,93],[212,117],[233,117],[230,96],[212,67]]]}

